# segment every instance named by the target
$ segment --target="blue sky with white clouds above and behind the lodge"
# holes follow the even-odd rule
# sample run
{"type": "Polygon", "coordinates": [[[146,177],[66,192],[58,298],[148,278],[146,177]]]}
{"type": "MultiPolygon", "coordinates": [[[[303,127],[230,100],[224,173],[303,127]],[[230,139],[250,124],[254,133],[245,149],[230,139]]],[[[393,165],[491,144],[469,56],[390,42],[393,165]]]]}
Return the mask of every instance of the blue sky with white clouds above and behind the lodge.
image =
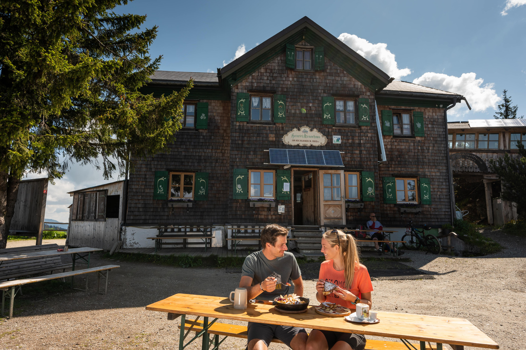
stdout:
{"type": "MultiPolygon", "coordinates": [[[[503,89],[519,116],[526,115],[525,3],[135,0],[115,12],[146,14],[145,27],[159,27],[150,53],[163,55],[160,69],[214,72],[236,51],[242,54],[308,16],[390,76],[466,96],[473,110],[462,102],[448,113],[454,121],[492,119],[503,89]]],[[[115,180],[74,165],[50,185],[46,218],[67,221],[72,200],[65,192],[115,180]]]]}

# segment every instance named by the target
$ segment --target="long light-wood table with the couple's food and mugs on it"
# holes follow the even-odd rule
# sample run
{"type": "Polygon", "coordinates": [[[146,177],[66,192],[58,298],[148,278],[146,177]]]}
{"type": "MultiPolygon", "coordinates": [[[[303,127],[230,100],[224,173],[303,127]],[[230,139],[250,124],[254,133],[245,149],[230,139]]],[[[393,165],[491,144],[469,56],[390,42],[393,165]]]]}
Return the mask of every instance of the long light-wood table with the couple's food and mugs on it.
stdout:
{"type": "MultiPolygon", "coordinates": [[[[315,304],[317,303],[315,302],[315,304]]],[[[349,323],[343,320],[343,317],[319,315],[314,311],[313,306],[309,306],[307,312],[302,314],[283,314],[275,311],[274,306],[264,304],[249,304],[245,310],[236,310],[228,298],[194,294],[175,294],[146,306],[146,310],[182,315],[180,349],[183,348],[185,315],[204,316],[205,326],[208,323],[208,317],[215,317],[216,320],[226,318],[228,320],[434,342],[437,343],[438,349],[442,348],[442,344],[450,344],[454,349],[463,346],[499,348],[499,345],[490,337],[463,318],[378,311],[380,323],[363,325],[349,323]],[[440,346],[438,346],[439,344],[440,346]]],[[[208,326],[214,322],[215,320],[208,326]]],[[[207,329],[208,327],[205,327],[201,333],[208,338],[207,329]]]]}

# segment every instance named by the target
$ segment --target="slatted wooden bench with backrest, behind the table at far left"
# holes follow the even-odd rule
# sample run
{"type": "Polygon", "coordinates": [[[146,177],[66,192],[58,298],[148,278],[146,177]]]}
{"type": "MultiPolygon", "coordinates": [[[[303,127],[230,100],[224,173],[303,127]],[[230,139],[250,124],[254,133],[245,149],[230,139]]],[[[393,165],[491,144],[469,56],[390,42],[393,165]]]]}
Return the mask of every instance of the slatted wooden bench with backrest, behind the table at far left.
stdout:
{"type": "MultiPolygon", "coordinates": [[[[58,248],[59,246],[57,244],[31,245],[2,249],[0,250],[0,254],[25,254],[29,252],[52,251],[58,248]]],[[[69,267],[72,267],[72,265],[72,263],[62,263],[59,255],[0,261],[0,281],[36,273],[53,273],[53,271],[56,270],[62,270],[64,272],[66,269],[69,269],[69,267]]]]}

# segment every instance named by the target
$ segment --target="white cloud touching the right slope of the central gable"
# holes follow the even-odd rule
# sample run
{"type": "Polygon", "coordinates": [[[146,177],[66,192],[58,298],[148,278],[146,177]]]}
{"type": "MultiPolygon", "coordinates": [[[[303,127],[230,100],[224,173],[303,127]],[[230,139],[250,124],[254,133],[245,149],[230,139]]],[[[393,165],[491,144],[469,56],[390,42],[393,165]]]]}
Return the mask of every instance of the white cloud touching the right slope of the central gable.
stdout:
{"type": "Polygon", "coordinates": [[[348,33],[340,34],[338,39],[363,56],[363,58],[385,71],[390,77],[395,77],[396,80],[411,74],[411,69],[409,68],[398,68],[395,54],[387,49],[387,44],[372,44],[366,39],[348,33]]]}

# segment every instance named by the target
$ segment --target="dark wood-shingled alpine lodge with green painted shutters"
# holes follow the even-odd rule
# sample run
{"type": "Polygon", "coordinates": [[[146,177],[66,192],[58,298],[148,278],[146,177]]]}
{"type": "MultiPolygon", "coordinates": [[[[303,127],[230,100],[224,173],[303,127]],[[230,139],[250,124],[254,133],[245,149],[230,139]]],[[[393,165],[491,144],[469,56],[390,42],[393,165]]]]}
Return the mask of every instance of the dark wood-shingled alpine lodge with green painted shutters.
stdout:
{"type": "MultiPolygon", "coordinates": [[[[279,223],[301,254],[315,254],[319,243],[302,237],[355,228],[370,212],[391,239],[409,220],[435,233],[452,223],[447,110],[463,96],[393,81],[308,17],[217,74],[156,71],[142,92],[169,95],[190,78],[177,140],[135,160],[123,187],[124,251],[257,245],[242,237],[279,223]],[[180,238],[189,232],[208,238],[180,238]]],[[[78,208],[73,222],[103,220],[78,208]]]]}

